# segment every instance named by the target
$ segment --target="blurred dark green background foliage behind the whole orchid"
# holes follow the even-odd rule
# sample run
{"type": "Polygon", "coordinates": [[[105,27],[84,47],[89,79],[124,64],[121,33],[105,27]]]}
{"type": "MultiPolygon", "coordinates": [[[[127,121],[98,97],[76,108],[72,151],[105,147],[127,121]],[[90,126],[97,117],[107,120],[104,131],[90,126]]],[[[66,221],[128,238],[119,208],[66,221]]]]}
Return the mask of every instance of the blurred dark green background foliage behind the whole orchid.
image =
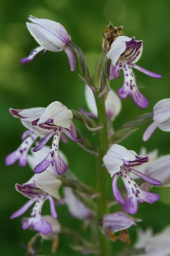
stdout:
{"type": "MultiPolygon", "coordinates": [[[[1,255],[24,255],[20,242],[27,244],[34,232],[22,230],[20,218],[10,220],[15,212],[25,202],[26,198],[15,191],[15,183],[22,184],[32,175],[28,166],[22,168],[18,163],[5,166],[4,158],[20,145],[20,136],[25,131],[20,120],[13,118],[8,109],[46,107],[54,100],[59,100],[71,109],[80,107],[87,110],[84,98],[84,84],[75,72],[69,69],[67,56],[64,52],[46,52],[45,56],[38,54],[31,63],[20,65],[19,60],[29,55],[31,49],[38,46],[25,26],[27,17],[31,14],[60,22],[69,32],[74,43],[80,46],[87,57],[89,67],[94,70],[94,64],[101,52],[101,43],[106,25],[111,21],[114,26],[124,25],[125,35],[143,39],[144,51],[138,65],[148,70],[162,74],[162,79],[152,79],[135,71],[141,92],[148,98],[147,109],[139,109],[133,100],[122,100],[122,112],[115,120],[117,129],[125,121],[143,113],[152,111],[154,104],[170,97],[169,88],[169,8],[170,1],[164,0],[1,0],[0,3],[0,115],[1,115],[1,255]]],[[[123,78],[111,82],[115,90],[120,88],[123,78]]],[[[76,124],[78,124],[76,122],[76,124]]],[[[78,124],[79,125],[79,124],[78,124]]],[[[79,125],[83,134],[92,140],[97,134],[91,135],[79,125]]],[[[122,145],[139,152],[141,146],[148,151],[159,148],[159,154],[169,154],[169,133],[157,129],[146,143],[142,135],[147,125],[143,125],[122,145]]],[[[69,168],[76,175],[92,186],[96,185],[94,156],[83,152],[76,143],[69,141],[67,145],[60,143],[60,148],[69,159],[69,168]]],[[[111,179],[109,179],[111,182],[111,179]]],[[[111,184],[111,183],[109,183],[111,184]]],[[[153,205],[139,206],[136,217],[143,219],[140,227],[152,227],[155,232],[162,230],[170,223],[169,189],[156,189],[161,200],[153,205]]],[[[112,191],[110,186],[110,198],[112,191]]],[[[48,205],[46,207],[48,209],[48,205]]],[[[45,211],[48,211],[46,210],[45,211]]],[[[63,225],[81,228],[81,221],[72,219],[66,206],[57,209],[59,220],[63,225]]],[[[27,212],[29,214],[29,211],[27,212]]],[[[26,214],[26,215],[27,215],[26,214]]],[[[83,232],[82,232],[83,234],[83,232]]],[[[88,232],[87,232],[88,238],[88,232]]],[[[134,241],[136,228],[131,228],[134,241]]],[[[80,255],[73,252],[66,244],[71,241],[60,236],[57,255],[80,255]]],[[[50,242],[43,244],[44,255],[50,253],[50,242]]],[[[121,250],[122,243],[113,244],[115,254],[121,250]]]]}

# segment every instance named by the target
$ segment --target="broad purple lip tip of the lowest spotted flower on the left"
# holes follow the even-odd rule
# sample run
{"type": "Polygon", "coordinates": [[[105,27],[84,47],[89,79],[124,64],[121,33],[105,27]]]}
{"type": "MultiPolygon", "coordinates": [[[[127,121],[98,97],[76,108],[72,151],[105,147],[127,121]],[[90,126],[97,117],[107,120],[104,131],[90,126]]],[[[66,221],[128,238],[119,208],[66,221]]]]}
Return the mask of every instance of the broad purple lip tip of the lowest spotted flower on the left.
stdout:
{"type": "Polygon", "coordinates": [[[34,228],[34,230],[41,232],[43,234],[49,234],[52,232],[52,226],[46,222],[42,217],[38,218],[29,218],[23,220],[22,228],[25,230],[27,228],[34,228]]]}

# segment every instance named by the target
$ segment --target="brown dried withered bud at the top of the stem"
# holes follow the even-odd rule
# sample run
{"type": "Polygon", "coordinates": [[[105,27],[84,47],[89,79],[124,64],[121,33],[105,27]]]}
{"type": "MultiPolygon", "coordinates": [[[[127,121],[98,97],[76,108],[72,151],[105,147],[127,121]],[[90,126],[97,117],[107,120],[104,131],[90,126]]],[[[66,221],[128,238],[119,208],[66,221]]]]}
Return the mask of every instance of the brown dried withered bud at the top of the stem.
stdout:
{"type": "Polygon", "coordinates": [[[120,27],[113,27],[112,23],[110,22],[109,26],[106,26],[106,29],[103,33],[104,40],[103,40],[103,46],[104,49],[108,52],[110,50],[110,46],[113,43],[113,41],[118,37],[124,35],[122,32],[122,29],[124,26],[120,27]]]}

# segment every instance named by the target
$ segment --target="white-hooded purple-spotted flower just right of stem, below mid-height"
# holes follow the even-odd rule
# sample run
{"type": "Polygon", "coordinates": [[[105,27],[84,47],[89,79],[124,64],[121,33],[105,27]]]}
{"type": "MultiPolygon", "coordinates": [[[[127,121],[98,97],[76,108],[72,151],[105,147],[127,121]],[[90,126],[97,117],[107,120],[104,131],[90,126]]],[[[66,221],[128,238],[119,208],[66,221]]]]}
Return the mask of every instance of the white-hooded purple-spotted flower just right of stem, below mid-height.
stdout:
{"type": "Polygon", "coordinates": [[[138,202],[153,202],[159,200],[159,195],[150,193],[141,189],[138,184],[131,178],[134,173],[146,182],[159,186],[162,183],[134,169],[134,166],[148,162],[148,157],[140,157],[133,150],[127,150],[125,147],[113,144],[103,157],[104,165],[108,169],[111,177],[113,177],[112,188],[115,199],[122,204],[124,211],[135,214],[138,211],[138,202]],[[127,190],[127,198],[124,200],[117,187],[118,177],[121,177],[125,189],[127,190]]]}

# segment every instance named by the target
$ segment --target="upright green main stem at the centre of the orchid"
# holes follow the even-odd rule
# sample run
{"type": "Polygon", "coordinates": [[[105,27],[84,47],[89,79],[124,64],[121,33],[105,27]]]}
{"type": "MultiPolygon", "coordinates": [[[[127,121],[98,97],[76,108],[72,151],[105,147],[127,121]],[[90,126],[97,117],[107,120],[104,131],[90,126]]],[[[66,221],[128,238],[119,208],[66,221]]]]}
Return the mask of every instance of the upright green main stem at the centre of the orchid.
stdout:
{"type": "MultiPolygon", "coordinates": [[[[97,218],[98,220],[103,218],[103,215],[107,212],[107,177],[108,173],[106,168],[103,167],[103,156],[108,150],[108,131],[107,131],[107,119],[104,99],[99,99],[96,95],[96,105],[98,111],[98,120],[103,129],[99,131],[99,156],[96,157],[96,169],[97,169],[97,191],[100,193],[100,197],[97,200],[97,218]]],[[[99,243],[101,249],[101,255],[110,256],[111,247],[110,241],[101,234],[99,230],[99,243]]]]}

